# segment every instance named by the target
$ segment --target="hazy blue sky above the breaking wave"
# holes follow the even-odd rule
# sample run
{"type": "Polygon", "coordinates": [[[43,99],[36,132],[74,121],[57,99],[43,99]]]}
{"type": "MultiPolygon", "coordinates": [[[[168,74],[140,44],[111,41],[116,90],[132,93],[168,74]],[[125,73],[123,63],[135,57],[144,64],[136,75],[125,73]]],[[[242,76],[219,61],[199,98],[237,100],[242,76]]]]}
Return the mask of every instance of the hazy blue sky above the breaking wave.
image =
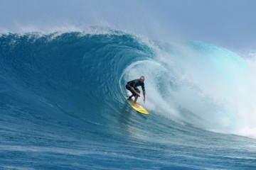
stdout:
{"type": "Polygon", "coordinates": [[[52,33],[92,26],[150,40],[198,40],[256,50],[254,0],[0,0],[0,33],[52,33]]]}

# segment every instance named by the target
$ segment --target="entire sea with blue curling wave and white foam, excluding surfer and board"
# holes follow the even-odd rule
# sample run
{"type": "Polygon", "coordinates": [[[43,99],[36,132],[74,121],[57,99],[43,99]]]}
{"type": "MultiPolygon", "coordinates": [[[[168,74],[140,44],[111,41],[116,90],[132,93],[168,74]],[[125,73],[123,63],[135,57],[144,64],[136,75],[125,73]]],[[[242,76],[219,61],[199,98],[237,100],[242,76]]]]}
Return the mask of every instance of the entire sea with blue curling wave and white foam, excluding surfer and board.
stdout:
{"type": "Polygon", "coordinates": [[[1,35],[0,169],[256,169],[251,73],[203,42],[1,35]],[[149,115],[124,98],[141,75],[149,115]]]}

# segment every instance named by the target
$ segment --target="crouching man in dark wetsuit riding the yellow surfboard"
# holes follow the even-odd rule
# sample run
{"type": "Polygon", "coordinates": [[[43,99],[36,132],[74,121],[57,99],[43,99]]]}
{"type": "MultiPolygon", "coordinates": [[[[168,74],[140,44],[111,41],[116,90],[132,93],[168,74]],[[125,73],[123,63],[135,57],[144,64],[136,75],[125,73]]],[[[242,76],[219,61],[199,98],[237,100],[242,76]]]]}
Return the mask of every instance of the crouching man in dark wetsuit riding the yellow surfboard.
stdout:
{"type": "Polygon", "coordinates": [[[140,77],[139,79],[134,79],[132,81],[128,81],[127,82],[127,85],[125,86],[125,88],[129,91],[132,92],[132,96],[129,96],[128,97],[128,100],[132,100],[132,97],[134,96],[134,104],[137,103],[137,99],[138,97],[140,97],[140,91],[139,89],[137,88],[137,86],[142,86],[142,91],[143,91],[143,96],[144,96],[144,103],[145,103],[145,95],[146,95],[146,91],[145,91],[145,86],[144,86],[144,80],[145,80],[145,77],[142,76],[140,77]]]}

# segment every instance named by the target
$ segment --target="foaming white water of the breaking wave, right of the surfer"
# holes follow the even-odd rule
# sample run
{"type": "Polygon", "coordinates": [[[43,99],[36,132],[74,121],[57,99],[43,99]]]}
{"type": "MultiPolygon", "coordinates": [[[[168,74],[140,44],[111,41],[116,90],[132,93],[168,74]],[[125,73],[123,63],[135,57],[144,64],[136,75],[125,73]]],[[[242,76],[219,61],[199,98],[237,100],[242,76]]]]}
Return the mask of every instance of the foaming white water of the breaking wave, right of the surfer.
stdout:
{"type": "Polygon", "coordinates": [[[124,71],[127,81],[146,77],[146,108],[206,130],[256,137],[252,62],[202,42],[160,48],[154,46],[154,60],[124,71]]]}

